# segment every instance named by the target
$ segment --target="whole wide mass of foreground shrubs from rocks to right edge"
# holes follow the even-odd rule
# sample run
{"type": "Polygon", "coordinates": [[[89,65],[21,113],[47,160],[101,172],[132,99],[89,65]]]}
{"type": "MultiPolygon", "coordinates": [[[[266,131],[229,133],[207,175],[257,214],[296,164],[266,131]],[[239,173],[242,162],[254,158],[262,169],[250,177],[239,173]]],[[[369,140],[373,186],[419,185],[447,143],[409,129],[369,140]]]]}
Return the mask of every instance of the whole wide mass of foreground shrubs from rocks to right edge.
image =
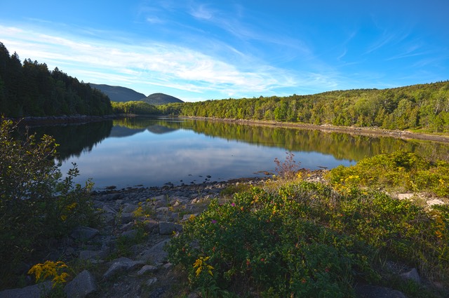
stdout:
{"type": "Polygon", "coordinates": [[[320,183],[253,188],[213,201],[168,253],[210,297],[353,297],[355,283],[378,281],[385,259],[445,283],[448,211],[427,212],[378,191],[343,196],[320,183]]]}

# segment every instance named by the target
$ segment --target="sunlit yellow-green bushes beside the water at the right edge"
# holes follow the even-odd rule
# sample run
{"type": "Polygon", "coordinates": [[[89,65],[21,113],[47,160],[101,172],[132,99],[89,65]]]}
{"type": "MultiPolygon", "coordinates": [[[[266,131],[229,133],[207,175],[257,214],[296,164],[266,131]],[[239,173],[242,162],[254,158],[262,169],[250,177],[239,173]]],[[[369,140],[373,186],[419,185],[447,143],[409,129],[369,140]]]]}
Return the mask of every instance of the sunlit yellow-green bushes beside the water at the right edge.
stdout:
{"type": "Polygon", "coordinates": [[[449,163],[432,162],[409,152],[395,151],[364,158],[356,165],[340,165],[328,178],[340,190],[353,187],[430,191],[436,196],[449,196],[449,163]]]}

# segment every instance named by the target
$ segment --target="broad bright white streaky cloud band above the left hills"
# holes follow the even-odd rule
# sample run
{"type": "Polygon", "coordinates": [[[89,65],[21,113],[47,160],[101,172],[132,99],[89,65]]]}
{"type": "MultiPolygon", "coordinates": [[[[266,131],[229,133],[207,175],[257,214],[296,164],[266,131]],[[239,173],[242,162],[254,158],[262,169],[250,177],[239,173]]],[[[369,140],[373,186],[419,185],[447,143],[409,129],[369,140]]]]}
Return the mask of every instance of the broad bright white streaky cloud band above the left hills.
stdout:
{"type": "MultiPolygon", "coordinates": [[[[269,65],[233,65],[173,44],[138,45],[63,37],[58,32],[0,26],[0,40],[20,57],[60,67],[83,81],[141,82],[193,93],[267,93],[297,84],[293,74],[269,65]]],[[[239,55],[243,55],[239,53],[239,55]]]]}

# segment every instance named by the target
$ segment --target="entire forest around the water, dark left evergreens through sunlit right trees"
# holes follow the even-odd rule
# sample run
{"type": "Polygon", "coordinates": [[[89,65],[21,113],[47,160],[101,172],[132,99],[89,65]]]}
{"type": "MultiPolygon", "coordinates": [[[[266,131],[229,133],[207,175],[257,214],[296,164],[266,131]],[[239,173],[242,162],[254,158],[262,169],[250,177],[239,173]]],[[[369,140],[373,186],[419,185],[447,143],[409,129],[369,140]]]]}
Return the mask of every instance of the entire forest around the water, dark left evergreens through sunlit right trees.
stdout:
{"type": "Polygon", "coordinates": [[[169,114],[317,125],[449,132],[449,81],[315,95],[180,102],[114,102],[100,90],[45,63],[10,55],[0,42],[0,114],[7,117],[169,114]]]}

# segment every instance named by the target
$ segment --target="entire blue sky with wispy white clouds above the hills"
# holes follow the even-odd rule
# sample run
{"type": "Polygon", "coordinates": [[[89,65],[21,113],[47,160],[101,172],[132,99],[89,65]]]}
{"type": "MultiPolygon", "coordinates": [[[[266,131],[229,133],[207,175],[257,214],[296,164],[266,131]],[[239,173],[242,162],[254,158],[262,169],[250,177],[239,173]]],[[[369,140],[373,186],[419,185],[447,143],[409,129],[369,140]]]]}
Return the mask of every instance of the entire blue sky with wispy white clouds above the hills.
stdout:
{"type": "Polygon", "coordinates": [[[448,0],[1,0],[0,42],[145,95],[304,95],[448,80],[448,12],[448,0]]]}

